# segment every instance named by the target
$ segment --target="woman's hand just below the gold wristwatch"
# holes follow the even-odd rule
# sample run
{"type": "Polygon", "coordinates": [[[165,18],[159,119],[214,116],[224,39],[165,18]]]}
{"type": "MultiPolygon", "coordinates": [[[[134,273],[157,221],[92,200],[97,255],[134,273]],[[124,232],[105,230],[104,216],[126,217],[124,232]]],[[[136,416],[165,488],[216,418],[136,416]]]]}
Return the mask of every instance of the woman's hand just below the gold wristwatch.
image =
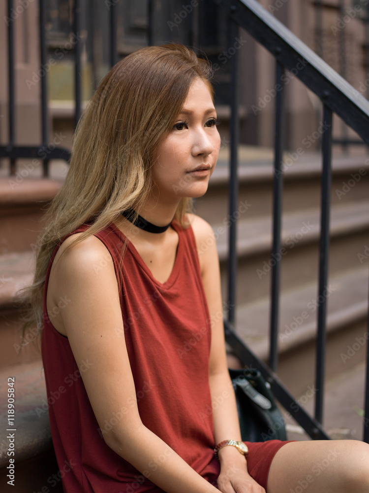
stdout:
{"type": "Polygon", "coordinates": [[[264,488],[248,474],[245,466],[232,464],[228,468],[222,467],[217,483],[222,493],[265,493],[264,488]]]}

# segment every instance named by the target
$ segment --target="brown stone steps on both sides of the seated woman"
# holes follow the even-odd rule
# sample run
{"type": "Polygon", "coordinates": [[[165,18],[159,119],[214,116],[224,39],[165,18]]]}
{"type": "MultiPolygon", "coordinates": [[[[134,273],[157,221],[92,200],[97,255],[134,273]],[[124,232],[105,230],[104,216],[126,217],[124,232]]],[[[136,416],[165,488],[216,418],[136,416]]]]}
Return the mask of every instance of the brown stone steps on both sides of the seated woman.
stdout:
{"type": "MultiPolygon", "coordinates": [[[[268,297],[273,261],[270,258],[271,153],[268,150],[241,147],[240,159],[236,330],[251,349],[265,359],[268,352],[268,297]]],[[[278,375],[295,395],[305,398],[314,381],[316,305],[319,303],[316,280],[320,168],[320,157],[304,155],[298,163],[286,169],[284,179],[278,375]]],[[[367,170],[368,165],[361,157],[334,160],[327,286],[328,378],[347,372],[347,369],[351,371],[365,356],[361,341],[367,330],[368,304],[367,170]],[[353,349],[354,353],[348,354],[349,348],[355,344],[360,344],[360,350],[353,349]],[[342,357],[342,354],[348,357],[342,357]]],[[[224,300],[227,224],[233,220],[227,211],[227,183],[228,172],[223,151],[209,191],[204,198],[196,201],[196,209],[199,215],[212,224],[215,231],[224,300]]],[[[15,294],[31,280],[34,265],[32,245],[39,231],[41,210],[47,207],[60,184],[60,180],[30,178],[10,190],[8,178],[0,178],[0,204],[4,206],[0,208],[0,227],[3,231],[0,241],[0,394],[6,394],[6,378],[15,375],[19,399],[16,411],[18,470],[28,471],[30,478],[31,471],[40,471],[41,474],[34,481],[30,480],[28,485],[20,485],[19,493],[42,491],[43,486],[48,487],[48,479],[52,474],[58,472],[50,448],[47,412],[38,413],[38,416],[36,411],[37,408],[42,409],[46,398],[37,339],[31,334],[29,340],[24,341],[19,354],[16,351],[21,343],[21,311],[16,306],[15,294]],[[25,453],[25,450],[28,452],[25,453]]],[[[206,245],[200,248],[199,255],[206,248],[206,245]]],[[[1,398],[1,402],[5,401],[1,398]]],[[[334,406],[332,402],[327,400],[327,406],[334,406]]],[[[326,413],[329,412],[326,407],[326,413]]],[[[0,421],[6,418],[4,408],[0,412],[0,421]]],[[[296,431],[293,423],[289,423],[289,429],[291,433],[296,431]]],[[[299,432],[296,435],[303,436],[299,432]]],[[[0,476],[6,475],[4,447],[6,449],[6,441],[1,442],[0,476]]],[[[59,484],[49,489],[56,492],[57,488],[60,488],[59,484]]],[[[13,491],[18,493],[18,490],[13,491]]]]}

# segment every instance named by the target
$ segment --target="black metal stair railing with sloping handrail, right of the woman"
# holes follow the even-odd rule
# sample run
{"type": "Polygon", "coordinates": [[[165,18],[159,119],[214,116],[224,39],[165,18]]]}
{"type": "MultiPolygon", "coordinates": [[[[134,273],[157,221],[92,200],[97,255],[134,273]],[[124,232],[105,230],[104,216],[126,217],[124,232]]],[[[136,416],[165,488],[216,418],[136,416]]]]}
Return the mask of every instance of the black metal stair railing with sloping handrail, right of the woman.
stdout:
{"type": "MultiPolygon", "coordinates": [[[[327,297],[324,291],[328,281],[329,260],[329,225],[330,225],[330,191],[332,174],[332,118],[335,112],[343,122],[350,126],[369,144],[369,102],[356,91],[335,70],[326,64],[318,55],[307,47],[297,36],[281,24],[273,15],[264,9],[256,0],[214,0],[216,4],[226,10],[231,22],[245,29],[256,41],[268,49],[276,59],[277,82],[281,80],[283,70],[294,70],[294,75],[299,78],[308,89],[320,99],[323,107],[323,123],[326,130],[322,137],[322,181],[321,181],[321,219],[320,219],[320,246],[319,246],[319,300],[323,301],[318,307],[317,319],[317,353],[316,353],[316,394],[315,394],[315,419],[308,417],[301,409],[296,412],[294,419],[300,423],[312,438],[328,438],[321,428],[324,401],[324,369],[326,346],[326,318],[327,297]],[[297,67],[299,68],[297,70],[297,67]],[[320,298],[321,297],[321,298],[320,298]]],[[[282,88],[283,89],[283,88],[282,88]]],[[[232,100],[232,115],[237,115],[238,102],[232,100]]],[[[273,247],[272,258],[278,259],[272,267],[271,286],[271,317],[270,317],[270,354],[269,366],[253,355],[245,346],[241,347],[241,341],[232,328],[234,313],[225,322],[225,334],[227,342],[233,347],[236,354],[245,364],[252,359],[264,376],[273,384],[273,391],[282,405],[288,409],[293,404],[293,397],[278,381],[275,371],[278,360],[278,313],[279,313],[279,278],[280,278],[280,234],[283,195],[283,170],[282,161],[282,116],[283,116],[283,90],[276,91],[276,121],[275,121],[275,159],[274,159],[274,202],[273,202],[273,247]],[[278,257],[279,254],[279,257],[278,257]]],[[[236,116],[235,116],[236,118],[236,116]]],[[[232,135],[232,141],[237,136],[232,135]]],[[[231,159],[231,178],[229,185],[230,215],[235,214],[234,199],[232,198],[235,184],[232,182],[237,176],[237,162],[231,159]]],[[[234,255],[236,223],[230,228],[229,251],[234,255]]],[[[230,281],[228,284],[236,284],[236,264],[229,262],[230,281]]],[[[234,289],[229,290],[228,306],[235,306],[234,289]]],[[[369,319],[368,319],[369,323],[369,319]]],[[[367,349],[369,361],[369,345],[367,349]]],[[[369,423],[369,370],[367,368],[365,423],[369,423]]],[[[369,442],[369,426],[364,427],[364,441],[369,442]]]]}

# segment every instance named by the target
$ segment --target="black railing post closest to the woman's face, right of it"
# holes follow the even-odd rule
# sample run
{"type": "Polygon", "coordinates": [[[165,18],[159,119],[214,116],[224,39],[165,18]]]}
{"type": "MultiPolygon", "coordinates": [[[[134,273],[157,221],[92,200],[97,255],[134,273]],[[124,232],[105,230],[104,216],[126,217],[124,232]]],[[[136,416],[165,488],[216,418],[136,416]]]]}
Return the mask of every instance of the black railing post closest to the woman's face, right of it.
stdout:
{"type": "MultiPolygon", "coordinates": [[[[238,35],[238,26],[230,20],[231,44],[238,35]]],[[[229,165],[229,249],[228,249],[228,321],[234,325],[236,319],[236,282],[237,282],[237,220],[238,205],[238,56],[237,51],[231,58],[231,118],[230,131],[230,165],[229,165]]]]}

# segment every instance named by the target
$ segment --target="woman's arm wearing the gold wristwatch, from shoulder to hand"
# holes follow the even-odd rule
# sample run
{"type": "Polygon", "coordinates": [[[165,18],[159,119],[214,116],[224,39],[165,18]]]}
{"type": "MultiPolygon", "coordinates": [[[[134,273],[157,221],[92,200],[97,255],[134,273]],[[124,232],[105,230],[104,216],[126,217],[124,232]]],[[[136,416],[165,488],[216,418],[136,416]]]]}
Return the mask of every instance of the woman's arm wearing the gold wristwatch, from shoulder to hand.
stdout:
{"type": "MultiPolygon", "coordinates": [[[[209,362],[209,383],[212,395],[215,444],[223,440],[241,441],[236,397],[228,372],[224,342],[219,260],[211,226],[192,216],[201,276],[212,323],[212,343],[209,362]]],[[[224,493],[264,492],[247,473],[245,456],[233,446],[219,450],[220,475],[218,488],[224,493]]],[[[265,493],[265,492],[264,492],[265,493]]]]}

